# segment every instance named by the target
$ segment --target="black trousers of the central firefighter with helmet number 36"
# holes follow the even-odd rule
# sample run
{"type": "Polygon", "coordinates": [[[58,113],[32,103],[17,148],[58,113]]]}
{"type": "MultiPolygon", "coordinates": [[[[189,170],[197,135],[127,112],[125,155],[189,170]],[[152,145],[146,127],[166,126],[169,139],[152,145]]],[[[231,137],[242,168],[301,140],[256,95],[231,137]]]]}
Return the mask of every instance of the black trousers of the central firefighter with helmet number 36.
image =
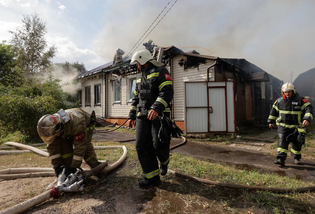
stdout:
{"type": "Polygon", "coordinates": [[[149,120],[147,116],[140,116],[136,121],[136,151],[138,159],[145,180],[155,182],[160,180],[157,158],[161,164],[169,164],[170,133],[168,135],[168,143],[162,144],[158,138],[158,132],[161,127],[158,117],[154,120],[149,120]]]}

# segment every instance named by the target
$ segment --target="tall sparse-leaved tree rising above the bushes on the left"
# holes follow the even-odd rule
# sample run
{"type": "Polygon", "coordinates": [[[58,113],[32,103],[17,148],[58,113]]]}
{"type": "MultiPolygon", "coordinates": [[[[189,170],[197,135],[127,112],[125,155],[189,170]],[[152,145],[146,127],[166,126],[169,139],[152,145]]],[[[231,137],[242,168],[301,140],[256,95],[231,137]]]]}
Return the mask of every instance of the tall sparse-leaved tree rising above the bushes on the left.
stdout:
{"type": "Polygon", "coordinates": [[[49,67],[57,49],[55,45],[47,47],[46,22],[37,13],[23,17],[23,25],[17,27],[16,32],[9,31],[13,35],[11,43],[17,55],[18,66],[27,74],[36,74],[49,67]]]}

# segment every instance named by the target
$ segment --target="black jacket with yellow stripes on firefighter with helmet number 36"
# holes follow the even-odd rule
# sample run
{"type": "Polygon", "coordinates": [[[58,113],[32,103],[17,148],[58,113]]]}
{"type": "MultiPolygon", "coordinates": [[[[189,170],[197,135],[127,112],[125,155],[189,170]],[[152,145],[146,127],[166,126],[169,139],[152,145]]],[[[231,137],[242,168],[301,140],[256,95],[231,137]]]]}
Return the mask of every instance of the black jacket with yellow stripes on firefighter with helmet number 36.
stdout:
{"type": "Polygon", "coordinates": [[[173,95],[173,83],[168,70],[149,62],[148,67],[142,68],[136,78],[129,119],[148,115],[151,109],[169,116],[173,95]]]}

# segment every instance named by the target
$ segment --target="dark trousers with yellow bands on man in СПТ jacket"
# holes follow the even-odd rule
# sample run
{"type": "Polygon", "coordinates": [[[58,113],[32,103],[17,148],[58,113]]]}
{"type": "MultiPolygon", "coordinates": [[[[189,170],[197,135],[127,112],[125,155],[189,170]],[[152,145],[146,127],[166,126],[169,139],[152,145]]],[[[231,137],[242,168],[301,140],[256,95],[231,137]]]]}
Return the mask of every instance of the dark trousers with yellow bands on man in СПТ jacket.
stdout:
{"type": "MultiPolygon", "coordinates": [[[[277,159],[283,158],[284,160],[287,158],[288,148],[290,142],[287,142],[287,136],[292,134],[295,129],[284,128],[278,126],[278,153],[277,159]]],[[[301,149],[302,145],[297,141],[297,139],[293,139],[291,142],[291,157],[294,159],[301,159],[301,149]]]]}

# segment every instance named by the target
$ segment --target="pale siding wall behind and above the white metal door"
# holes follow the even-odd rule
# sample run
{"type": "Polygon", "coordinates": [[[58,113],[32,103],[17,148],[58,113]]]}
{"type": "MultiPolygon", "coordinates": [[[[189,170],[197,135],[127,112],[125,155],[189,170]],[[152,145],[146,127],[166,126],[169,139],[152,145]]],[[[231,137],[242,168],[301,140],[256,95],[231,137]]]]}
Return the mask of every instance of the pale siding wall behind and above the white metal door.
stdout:
{"type": "MultiPolygon", "coordinates": [[[[184,71],[184,66],[180,66],[178,63],[181,59],[186,61],[187,57],[177,55],[173,58],[173,86],[174,86],[174,98],[173,98],[173,117],[175,120],[184,120],[184,82],[186,81],[205,81],[207,78],[207,67],[215,63],[212,60],[206,60],[205,64],[199,64],[199,71],[197,68],[187,68],[184,71]]],[[[209,70],[210,81],[215,80],[214,67],[209,70]]]]}

